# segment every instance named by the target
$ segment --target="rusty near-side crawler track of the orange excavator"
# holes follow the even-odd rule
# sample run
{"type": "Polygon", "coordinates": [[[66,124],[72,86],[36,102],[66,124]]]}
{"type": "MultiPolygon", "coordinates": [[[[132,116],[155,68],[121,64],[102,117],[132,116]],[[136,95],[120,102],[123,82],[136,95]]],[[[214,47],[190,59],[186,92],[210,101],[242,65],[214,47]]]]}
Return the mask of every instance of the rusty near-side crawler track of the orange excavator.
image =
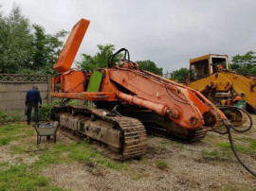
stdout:
{"type": "Polygon", "coordinates": [[[52,109],[51,118],[79,136],[105,144],[119,160],[142,156],[147,148],[147,134],[139,120],[126,116],[107,116],[103,109],[60,106],[52,109]]]}

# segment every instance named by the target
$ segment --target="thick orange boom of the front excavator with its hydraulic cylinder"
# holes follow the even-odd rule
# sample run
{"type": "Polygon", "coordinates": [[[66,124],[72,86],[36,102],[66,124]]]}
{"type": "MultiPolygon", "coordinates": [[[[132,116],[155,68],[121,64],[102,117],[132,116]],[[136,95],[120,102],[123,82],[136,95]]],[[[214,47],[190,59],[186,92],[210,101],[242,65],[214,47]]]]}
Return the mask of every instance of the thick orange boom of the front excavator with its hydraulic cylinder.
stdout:
{"type": "Polygon", "coordinates": [[[128,103],[147,108],[160,115],[172,118],[183,128],[194,129],[204,124],[202,113],[210,108],[191,94],[186,87],[178,87],[171,80],[155,78],[149,72],[125,68],[109,69],[110,78],[118,87],[118,97],[128,103]]]}

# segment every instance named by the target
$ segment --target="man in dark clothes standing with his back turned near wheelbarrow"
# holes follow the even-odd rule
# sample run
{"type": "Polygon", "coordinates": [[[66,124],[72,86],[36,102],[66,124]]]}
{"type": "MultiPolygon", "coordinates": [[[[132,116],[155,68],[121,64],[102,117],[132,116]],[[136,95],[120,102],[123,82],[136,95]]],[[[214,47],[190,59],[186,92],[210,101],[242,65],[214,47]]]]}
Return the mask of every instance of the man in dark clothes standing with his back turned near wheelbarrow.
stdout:
{"type": "MultiPolygon", "coordinates": [[[[26,106],[27,106],[27,125],[30,125],[32,108],[34,109],[35,122],[39,123],[38,118],[38,102],[42,104],[42,99],[38,88],[33,85],[32,89],[27,92],[26,106]]],[[[41,106],[40,106],[41,107],[41,106]]]]}

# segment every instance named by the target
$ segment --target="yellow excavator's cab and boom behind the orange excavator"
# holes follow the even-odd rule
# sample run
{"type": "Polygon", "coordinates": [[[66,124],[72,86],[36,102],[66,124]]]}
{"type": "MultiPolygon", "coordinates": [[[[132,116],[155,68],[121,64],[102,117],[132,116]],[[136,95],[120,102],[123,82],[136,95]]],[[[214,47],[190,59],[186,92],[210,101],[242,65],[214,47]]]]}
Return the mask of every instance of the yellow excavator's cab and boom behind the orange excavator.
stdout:
{"type": "Polygon", "coordinates": [[[256,109],[256,79],[230,70],[227,55],[209,54],[190,60],[187,86],[208,96],[212,102],[221,103],[228,97],[232,103],[240,97],[256,109]]]}

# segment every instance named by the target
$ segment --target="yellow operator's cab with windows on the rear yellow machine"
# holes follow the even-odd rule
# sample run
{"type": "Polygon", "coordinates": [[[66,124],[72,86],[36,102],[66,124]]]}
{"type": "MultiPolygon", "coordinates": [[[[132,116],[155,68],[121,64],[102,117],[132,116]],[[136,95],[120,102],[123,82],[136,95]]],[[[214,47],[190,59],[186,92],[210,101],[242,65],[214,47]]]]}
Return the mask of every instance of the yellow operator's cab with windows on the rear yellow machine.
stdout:
{"type": "Polygon", "coordinates": [[[190,60],[190,81],[208,77],[219,70],[229,69],[227,55],[205,55],[190,60]]]}

